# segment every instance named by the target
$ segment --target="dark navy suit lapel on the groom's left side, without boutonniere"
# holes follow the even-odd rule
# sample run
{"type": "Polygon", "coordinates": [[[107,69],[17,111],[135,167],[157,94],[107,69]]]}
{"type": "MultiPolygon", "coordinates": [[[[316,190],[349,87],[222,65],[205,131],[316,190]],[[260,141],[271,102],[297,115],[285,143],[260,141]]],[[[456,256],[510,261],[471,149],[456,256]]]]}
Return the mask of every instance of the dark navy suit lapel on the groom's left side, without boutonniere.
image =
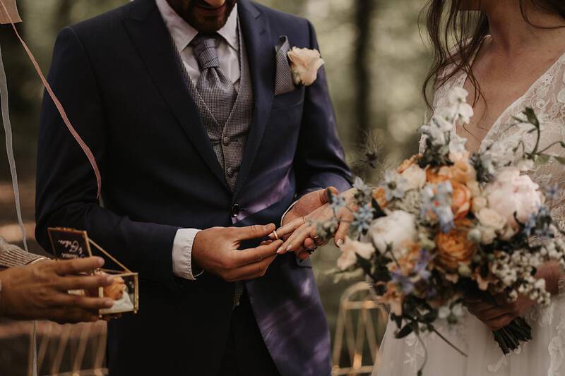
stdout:
{"type": "Polygon", "coordinates": [[[124,25],[157,90],[206,164],[229,190],[198,108],[189,95],[178,56],[155,0],[137,0],[131,4],[131,16],[124,19],[124,25]]]}

